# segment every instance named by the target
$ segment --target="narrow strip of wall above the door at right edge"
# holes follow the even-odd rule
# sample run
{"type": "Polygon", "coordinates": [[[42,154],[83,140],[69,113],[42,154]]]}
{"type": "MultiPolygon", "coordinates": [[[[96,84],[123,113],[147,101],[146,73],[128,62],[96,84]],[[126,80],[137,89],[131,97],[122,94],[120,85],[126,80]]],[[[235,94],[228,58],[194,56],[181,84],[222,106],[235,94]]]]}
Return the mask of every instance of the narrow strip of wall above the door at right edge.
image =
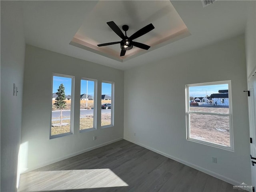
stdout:
{"type": "Polygon", "coordinates": [[[250,1],[245,30],[247,76],[256,70],[256,1],[250,1]]]}

